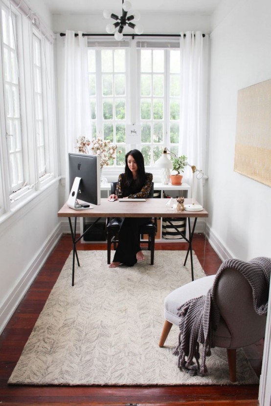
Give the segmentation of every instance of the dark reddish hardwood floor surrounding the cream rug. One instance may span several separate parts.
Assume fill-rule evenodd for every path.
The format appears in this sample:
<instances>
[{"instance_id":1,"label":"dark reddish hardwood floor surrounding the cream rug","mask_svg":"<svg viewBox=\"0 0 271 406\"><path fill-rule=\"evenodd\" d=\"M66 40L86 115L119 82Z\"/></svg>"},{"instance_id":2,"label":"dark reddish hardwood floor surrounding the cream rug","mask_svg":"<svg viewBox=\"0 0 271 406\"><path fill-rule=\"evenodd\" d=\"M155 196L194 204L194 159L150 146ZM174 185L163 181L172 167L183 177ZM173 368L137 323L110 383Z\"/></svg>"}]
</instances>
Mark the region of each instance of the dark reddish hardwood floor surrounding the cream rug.
<instances>
[{"instance_id":1,"label":"dark reddish hardwood floor surrounding the cream rug","mask_svg":"<svg viewBox=\"0 0 271 406\"><path fill-rule=\"evenodd\" d=\"M258 404L258 385L247 386L11 386L8 378L15 367L45 301L68 257L70 235L63 235L44 267L24 296L0 336L0 404L32 405L246 405ZM78 250L104 250L105 244L81 244ZM186 243L156 243L158 250L187 249ZM194 236L193 249L207 275L215 274L221 264L203 235ZM263 342L246 350L248 359L259 375Z\"/></svg>"}]
</instances>

